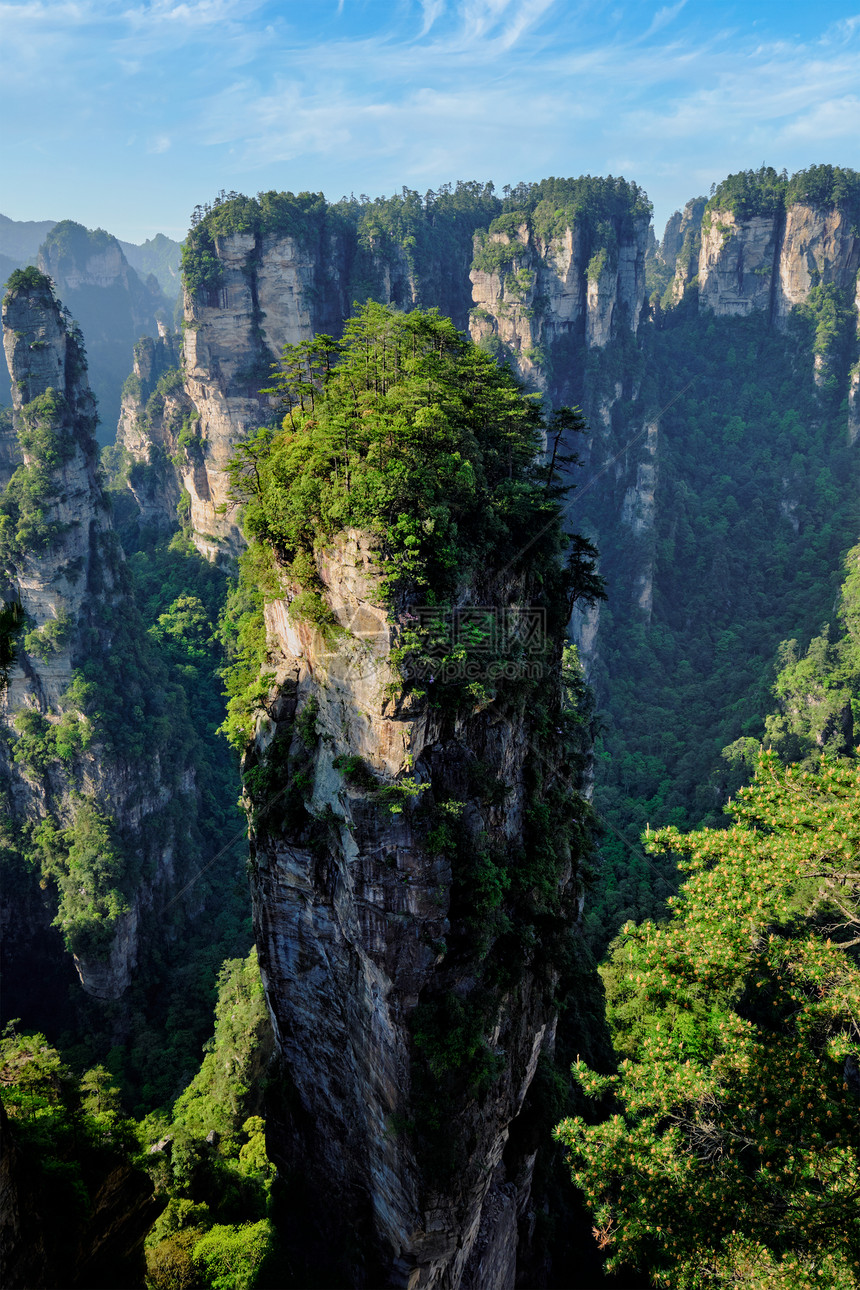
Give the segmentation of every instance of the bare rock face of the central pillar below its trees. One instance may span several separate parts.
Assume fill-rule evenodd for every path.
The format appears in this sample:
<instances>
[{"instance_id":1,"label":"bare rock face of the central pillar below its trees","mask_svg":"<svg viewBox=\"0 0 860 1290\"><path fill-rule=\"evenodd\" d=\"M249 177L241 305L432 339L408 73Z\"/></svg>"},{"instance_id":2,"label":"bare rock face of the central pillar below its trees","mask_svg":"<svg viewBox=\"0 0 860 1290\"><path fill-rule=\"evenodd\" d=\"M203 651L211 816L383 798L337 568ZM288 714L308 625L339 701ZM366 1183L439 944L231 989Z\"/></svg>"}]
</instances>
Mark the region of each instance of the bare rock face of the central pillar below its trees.
<instances>
[{"instance_id":1,"label":"bare rock face of the central pillar below its trees","mask_svg":"<svg viewBox=\"0 0 860 1290\"><path fill-rule=\"evenodd\" d=\"M422 1006L453 996L468 1009L476 984L447 957L456 877L433 841L433 813L454 801L476 848L521 845L534 734L527 713L493 704L453 721L386 699L400 684L389 659L397 624L379 608L371 546L348 531L320 575L349 633L327 645L290 618L289 592L267 606L275 686L248 757L289 762L307 784L299 814L313 822L311 837L290 824L282 791L250 802L260 970L291 1090L269 1151L326 1198L333 1249L360 1250L340 1271L352 1284L507 1290L534 1165L517 1116L556 1024L539 956L487 1024L498 1055L489 1087L445 1109L444 1146L460 1148L444 1178L422 1136L433 1103L422 1100L416 1044ZM361 777L348 769L358 760ZM505 786L493 805L486 787L476 791L478 770L485 786ZM404 782L416 786L413 797L392 810L384 795L393 802L391 786ZM454 1026L458 1004L447 1006Z\"/></svg>"}]
</instances>

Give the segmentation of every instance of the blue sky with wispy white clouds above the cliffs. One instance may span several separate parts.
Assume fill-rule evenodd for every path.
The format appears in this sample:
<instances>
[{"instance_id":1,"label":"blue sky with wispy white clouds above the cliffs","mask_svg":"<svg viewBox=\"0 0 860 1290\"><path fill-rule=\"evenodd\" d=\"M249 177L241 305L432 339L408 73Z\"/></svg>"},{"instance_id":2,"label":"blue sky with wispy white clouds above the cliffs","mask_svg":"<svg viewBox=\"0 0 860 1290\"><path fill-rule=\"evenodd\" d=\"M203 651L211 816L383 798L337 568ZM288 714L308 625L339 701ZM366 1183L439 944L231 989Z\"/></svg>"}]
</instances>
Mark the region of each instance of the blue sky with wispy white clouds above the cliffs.
<instances>
[{"instance_id":1,"label":"blue sky with wispy white clouds above the cliffs","mask_svg":"<svg viewBox=\"0 0 860 1290\"><path fill-rule=\"evenodd\" d=\"M762 161L860 169L860 0L0 0L0 212L183 237L219 188L623 174L661 228Z\"/></svg>"}]
</instances>

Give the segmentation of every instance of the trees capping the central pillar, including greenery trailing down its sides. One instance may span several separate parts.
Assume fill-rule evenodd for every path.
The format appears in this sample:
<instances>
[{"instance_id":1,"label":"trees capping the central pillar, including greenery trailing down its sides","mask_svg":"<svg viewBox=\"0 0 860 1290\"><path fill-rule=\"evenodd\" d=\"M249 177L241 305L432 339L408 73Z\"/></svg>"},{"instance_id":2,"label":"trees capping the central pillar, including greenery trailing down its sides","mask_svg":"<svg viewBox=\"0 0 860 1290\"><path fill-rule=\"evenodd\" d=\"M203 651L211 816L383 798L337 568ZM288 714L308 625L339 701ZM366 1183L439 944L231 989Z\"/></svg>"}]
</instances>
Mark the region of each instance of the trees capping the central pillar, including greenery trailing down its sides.
<instances>
[{"instance_id":1,"label":"trees capping the central pillar, including greenery trailing down its sides","mask_svg":"<svg viewBox=\"0 0 860 1290\"><path fill-rule=\"evenodd\" d=\"M409 602L444 617L467 583L491 595L494 569L511 583L534 580L549 636L563 631L571 599L602 597L596 550L561 526L557 467L570 458L539 461L539 400L436 311L400 313L369 302L340 342L288 346L269 392L282 400L282 431L250 436L230 466L251 539L244 557L250 599L263 583L281 595L284 574L300 588L291 614L331 627L316 552L348 526L374 541L383 596L397 613ZM579 414L553 417L553 436L581 428ZM224 729L240 746L260 698L260 606L255 622L246 618L227 673ZM427 631L406 626L393 660L429 648ZM460 640L458 648L468 646ZM464 658L441 658L440 671ZM446 702L473 703L484 694L478 684L451 684Z\"/></svg>"}]
</instances>

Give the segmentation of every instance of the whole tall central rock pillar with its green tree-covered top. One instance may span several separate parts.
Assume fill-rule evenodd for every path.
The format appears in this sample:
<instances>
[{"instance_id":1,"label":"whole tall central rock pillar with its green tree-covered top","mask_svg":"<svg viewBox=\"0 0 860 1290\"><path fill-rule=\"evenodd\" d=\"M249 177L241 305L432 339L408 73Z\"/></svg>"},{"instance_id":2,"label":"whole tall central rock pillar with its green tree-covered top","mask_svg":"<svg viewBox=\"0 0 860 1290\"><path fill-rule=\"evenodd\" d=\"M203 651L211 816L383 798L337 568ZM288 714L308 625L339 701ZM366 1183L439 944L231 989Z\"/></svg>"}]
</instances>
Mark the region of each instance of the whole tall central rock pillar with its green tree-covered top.
<instances>
[{"instance_id":1,"label":"whole tall central rock pillar with its green tree-covered top","mask_svg":"<svg viewBox=\"0 0 860 1290\"><path fill-rule=\"evenodd\" d=\"M561 640L598 587L534 412L450 324L366 311L294 418L235 472L268 1151L338 1284L502 1290L588 851Z\"/></svg>"}]
</instances>

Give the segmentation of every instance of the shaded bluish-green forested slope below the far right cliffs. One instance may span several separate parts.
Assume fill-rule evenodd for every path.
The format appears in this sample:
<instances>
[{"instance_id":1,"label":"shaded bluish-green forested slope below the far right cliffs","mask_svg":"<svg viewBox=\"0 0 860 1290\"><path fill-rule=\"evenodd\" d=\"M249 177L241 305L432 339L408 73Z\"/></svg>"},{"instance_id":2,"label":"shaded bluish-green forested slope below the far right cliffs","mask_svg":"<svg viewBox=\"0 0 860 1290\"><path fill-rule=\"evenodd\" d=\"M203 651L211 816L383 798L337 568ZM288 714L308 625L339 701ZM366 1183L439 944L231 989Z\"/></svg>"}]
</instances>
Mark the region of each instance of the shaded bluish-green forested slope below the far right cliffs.
<instances>
[{"instance_id":1,"label":"shaded bluish-green forested slope below the far right cliffs","mask_svg":"<svg viewBox=\"0 0 860 1290\"><path fill-rule=\"evenodd\" d=\"M761 742L780 641L798 641L802 657L832 617L841 560L856 542L857 457L845 409L816 390L810 330L803 320L777 334L762 316L672 311L624 356L624 379L641 381L640 409L676 401L660 418L654 528L619 526L611 488L575 512L597 535L612 588L589 675L602 716L594 805L607 826L585 912L598 952L628 918L660 917L677 885L670 859L643 855L638 835L655 820L719 826L747 778L721 753L738 739ZM597 356L591 390L566 392L602 397L624 375L611 361ZM640 417L618 400L606 448L592 446L594 472ZM645 568L650 613L640 608Z\"/></svg>"}]
</instances>

